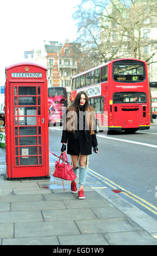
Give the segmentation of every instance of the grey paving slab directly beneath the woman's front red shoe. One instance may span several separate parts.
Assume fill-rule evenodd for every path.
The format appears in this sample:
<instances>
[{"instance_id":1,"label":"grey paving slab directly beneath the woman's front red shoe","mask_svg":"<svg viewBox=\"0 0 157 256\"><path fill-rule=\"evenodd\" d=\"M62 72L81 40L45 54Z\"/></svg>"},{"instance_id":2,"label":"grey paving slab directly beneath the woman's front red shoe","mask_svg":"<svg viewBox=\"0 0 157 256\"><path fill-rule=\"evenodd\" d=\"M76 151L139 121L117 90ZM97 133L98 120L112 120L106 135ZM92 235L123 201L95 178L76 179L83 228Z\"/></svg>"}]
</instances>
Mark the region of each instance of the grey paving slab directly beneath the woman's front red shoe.
<instances>
[{"instance_id":1,"label":"grey paving slab directly beneath the woman's front red shoe","mask_svg":"<svg viewBox=\"0 0 157 256\"><path fill-rule=\"evenodd\" d=\"M75 208L92 208L92 207L105 207L110 206L113 207L106 199L83 199L83 200L63 200L64 204L68 209L75 209Z\"/></svg>"}]
</instances>

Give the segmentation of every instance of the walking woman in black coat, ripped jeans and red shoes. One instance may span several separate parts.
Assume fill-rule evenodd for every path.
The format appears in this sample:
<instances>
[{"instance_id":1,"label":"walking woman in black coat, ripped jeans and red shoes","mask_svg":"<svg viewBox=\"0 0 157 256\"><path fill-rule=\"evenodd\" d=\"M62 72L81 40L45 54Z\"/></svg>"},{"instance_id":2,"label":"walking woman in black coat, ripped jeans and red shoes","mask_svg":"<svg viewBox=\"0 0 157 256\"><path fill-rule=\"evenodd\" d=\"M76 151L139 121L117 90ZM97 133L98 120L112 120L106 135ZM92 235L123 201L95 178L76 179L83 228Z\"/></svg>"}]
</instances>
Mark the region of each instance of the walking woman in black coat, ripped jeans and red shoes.
<instances>
[{"instance_id":1,"label":"walking woman in black coat, ripped jeans and red shoes","mask_svg":"<svg viewBox=\"0 0 157 256\"><path fill-rule=\"evenodd\" d=\"M66 151L66 143L68 142L67 154L71 156L75 175L77 167L80 169L79 199L85 198L83 187L86 184L88 157L91 154L92 146L94 152L98 153L95 130L95 109L89 105L87 94L81 91L76 95L74 102L66 112L61 139L62 152ZM71 181L71 192L77 193L76 180Z\"/></svg>"}]
</instances>

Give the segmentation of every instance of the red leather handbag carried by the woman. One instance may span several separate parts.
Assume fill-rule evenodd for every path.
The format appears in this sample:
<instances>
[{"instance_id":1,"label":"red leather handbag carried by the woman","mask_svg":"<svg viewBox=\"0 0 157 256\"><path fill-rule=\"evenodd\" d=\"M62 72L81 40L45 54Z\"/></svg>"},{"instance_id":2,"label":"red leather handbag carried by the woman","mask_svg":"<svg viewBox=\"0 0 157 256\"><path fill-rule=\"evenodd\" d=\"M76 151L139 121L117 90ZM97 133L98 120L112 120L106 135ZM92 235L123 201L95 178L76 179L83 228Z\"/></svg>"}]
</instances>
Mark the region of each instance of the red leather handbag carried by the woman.
<instances>
[{"instance_id":1,"label":"red leather handbag carried by the woman","mask_svg":"<svg viewBox=\"0 0 157 256\"><path fill-rule=\"evenodd\" d=\"M62 163L60 163L61 157L62 157ZM66 163L66 160L67 160L67 163ZM53 176L56 178L62 179L62 182L63 180L71 181L76 179L76 175L73 172L73 166L70 166L70 164L68 163L66 152L62 152L60 155L59 161L55 162L55 172ZM55 182L55 178L54 178L54 182ZM65 191L64 184L63 184L63 189Z\"/></svg>"}]
</instances>

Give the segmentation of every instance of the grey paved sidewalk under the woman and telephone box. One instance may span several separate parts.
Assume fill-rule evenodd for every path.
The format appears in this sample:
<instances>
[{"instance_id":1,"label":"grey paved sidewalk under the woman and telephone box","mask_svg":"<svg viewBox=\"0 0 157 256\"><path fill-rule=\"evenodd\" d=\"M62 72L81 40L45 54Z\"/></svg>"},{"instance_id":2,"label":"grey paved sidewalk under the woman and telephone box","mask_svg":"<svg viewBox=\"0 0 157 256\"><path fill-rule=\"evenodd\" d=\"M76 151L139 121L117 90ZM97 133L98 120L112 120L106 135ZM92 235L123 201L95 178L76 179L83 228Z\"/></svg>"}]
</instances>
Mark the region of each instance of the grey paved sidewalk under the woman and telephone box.
<instances>
[{"instance_id":1,"label":"grey paved sidewalk under the woman and telephone box","mask_svg":"<svg viewBox=\"0 0 157 256\"><path fill-rule=\"evenodd\" d=\"M79 200L53 172L50 163L50 179L6 180L0 148L0 245L157 245L153 218L89 175Z\"/></svg>"}]
</instances>

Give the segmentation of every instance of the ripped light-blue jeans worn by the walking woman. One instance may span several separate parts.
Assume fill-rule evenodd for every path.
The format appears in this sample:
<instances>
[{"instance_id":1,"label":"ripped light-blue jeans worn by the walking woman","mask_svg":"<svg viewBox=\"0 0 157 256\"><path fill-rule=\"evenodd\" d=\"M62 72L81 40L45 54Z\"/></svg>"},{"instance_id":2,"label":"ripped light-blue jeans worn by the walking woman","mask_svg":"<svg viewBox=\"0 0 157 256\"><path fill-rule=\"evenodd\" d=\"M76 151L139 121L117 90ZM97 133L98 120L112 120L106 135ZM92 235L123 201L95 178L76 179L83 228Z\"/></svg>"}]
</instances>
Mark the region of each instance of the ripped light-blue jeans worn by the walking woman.
<instances>
[{"instance_id":1,"label":"ripped light-blue jeans worn by the walking woman","mask_svg":"<svg viewBox=\"0 0 157 256\"><path fill-rule=\"evenodd\" d=\"M82 167L80 166L80 164L78 164L79 160L80 160L80 156L78 157L78 161L76 163L76 169L73 166L73 172L77 176L77 169L79 168L79 184L84 186L86 185L89 156L87 155L87 163L85 167ZM72 159L71 159L71 163L73 164Z\"/></svg>"}]
</instances>

